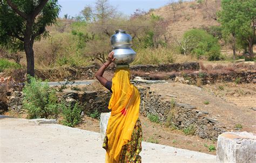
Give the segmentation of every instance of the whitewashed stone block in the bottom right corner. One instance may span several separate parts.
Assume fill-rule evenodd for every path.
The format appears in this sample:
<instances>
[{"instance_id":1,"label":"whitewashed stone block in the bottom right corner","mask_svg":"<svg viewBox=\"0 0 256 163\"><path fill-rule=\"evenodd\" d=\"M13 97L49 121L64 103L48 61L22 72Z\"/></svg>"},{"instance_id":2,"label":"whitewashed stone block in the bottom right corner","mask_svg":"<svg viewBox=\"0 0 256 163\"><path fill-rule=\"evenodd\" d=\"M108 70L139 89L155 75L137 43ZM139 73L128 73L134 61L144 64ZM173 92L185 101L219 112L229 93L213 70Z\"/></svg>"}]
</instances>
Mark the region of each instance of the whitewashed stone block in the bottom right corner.
<instances>
[{"instance_id":1,"label":"whitewashed stone block in the bottom right corner","mask_svg":"<svg viewBox=\"0 0 256 163\"><path fill-rule=\"evenodd\" d=\"M256 162L256 135L225 132L218 137L217 162Z\"/></svg>"}]
</instances>

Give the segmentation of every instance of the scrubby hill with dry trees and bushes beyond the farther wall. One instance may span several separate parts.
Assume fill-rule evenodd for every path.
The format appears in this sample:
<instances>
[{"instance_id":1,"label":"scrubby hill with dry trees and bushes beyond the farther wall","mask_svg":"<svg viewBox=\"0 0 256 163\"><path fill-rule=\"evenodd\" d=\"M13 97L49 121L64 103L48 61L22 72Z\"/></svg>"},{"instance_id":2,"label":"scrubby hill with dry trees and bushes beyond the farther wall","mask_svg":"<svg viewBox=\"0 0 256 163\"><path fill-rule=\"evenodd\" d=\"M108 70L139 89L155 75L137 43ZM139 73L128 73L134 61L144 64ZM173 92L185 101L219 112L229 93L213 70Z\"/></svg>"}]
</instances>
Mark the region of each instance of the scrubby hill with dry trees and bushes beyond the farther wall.
<instances>
[{"instance_id":1,"label":"scrubby hill with dry trees and bushes beyond the farther wall","mask_svg":"<svg viewBox=\"0 0 256 163\"><path fill-rule=\"evenodd\" d=\"M35 66L36 69L52 69L104 63L111 51L110 37L116 29L127 30L133 38L133 49L137 52L133 64L231 59L231 56L221 53L221 49L233 50L233 59L245 57L237 55L240 51L250 53L247 59L253 60L254 2L171 1L163 8L148 12L138 9L127 17L111 6L108 0L98 0L95 7L85 6L77 17L65 15L58 18L54 25L46 27L46 31L49 31L47 37L33 44ZM221 7L221 4L227 7ZM241 4L244 6L242 9L235 8ZM241 15L248 17L244 22L240 19L239 24L233 26L239 29L240 24L244 24L244 28L247 24L247 32L234 34L231 29L225 28L227 25L222 20L225 20L224 13L229 12L225 11L229 6L240 11L230 19L235 21ZM250 9L250 15L245 12L246 8ZM250 39L250 43L240 41L247 40L245 38ZM14 50L2 42L0 55L24 66L23 50Z\"/></svg>"}]
</instances>

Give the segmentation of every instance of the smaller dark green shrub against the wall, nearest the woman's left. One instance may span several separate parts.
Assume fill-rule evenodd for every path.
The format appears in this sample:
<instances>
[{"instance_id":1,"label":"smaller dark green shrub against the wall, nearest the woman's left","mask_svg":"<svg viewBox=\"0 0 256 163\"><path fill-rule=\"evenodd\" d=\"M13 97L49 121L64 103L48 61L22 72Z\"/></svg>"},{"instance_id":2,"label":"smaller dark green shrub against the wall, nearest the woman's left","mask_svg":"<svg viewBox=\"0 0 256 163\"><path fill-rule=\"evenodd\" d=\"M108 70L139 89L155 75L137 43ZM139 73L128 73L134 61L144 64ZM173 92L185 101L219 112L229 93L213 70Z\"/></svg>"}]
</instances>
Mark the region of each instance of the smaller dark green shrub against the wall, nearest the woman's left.
<instances>
[{"instance_id":1,"label":"smaller dark green shrub against the wall, nearest the woman's left","mask_svg":"<svg viewBox=\"0 0 256 163\"><path fill-rule=\"evenodd\" d=\"M64 119L62 121L63 125L73 127L80 123L82 108L78 105L78 103L71 105L62 102L60 107L62 108L62 116Z\"/></svg>"}]
</instances>

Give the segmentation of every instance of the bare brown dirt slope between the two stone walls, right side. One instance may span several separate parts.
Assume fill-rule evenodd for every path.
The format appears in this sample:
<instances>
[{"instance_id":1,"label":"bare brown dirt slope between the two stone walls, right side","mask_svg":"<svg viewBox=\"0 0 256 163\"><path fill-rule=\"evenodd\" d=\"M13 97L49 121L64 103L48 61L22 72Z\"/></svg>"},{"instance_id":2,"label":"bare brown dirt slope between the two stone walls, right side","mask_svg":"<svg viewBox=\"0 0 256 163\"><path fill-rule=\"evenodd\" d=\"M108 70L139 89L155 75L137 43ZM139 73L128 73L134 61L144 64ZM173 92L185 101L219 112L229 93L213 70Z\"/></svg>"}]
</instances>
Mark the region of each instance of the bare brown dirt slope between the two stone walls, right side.
<instances>
[{"instance_id":1,"label":"bare brown dirt slope between the two stone walls, right side","mask_svg":"<svg viewBox=\"0 0 256 163\"><path fill-rule=\"evenodd\" d=\"M256 111L250 109L250 107L256 107L254 84L235 85L229 83L224 84L224 88L219 88L219 84L197 87L181 83L147 86L150 86L151 90L163 98L171 100L171 97L166 96L171 94L177 97L174 100L179 103L194 105L198 110L207 111L209 118L219 121L220 125L226 127L228 131L235 130L235 125L239 124L242 125L241 131L256 133ZM216 87L220 91L215 91ZM217 93L223 94L223 96L219 96Z\"/></svg>"}]
</instances>

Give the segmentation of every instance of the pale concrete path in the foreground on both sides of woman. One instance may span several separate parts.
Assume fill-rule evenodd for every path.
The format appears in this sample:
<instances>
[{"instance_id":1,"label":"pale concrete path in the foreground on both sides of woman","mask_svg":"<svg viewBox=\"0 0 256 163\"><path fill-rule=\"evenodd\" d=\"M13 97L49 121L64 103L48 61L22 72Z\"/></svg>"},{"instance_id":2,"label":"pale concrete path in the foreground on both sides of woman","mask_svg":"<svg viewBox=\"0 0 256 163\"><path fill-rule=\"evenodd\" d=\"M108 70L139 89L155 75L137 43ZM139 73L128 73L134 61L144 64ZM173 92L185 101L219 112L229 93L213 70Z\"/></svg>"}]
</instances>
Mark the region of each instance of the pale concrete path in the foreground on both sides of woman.
<instances>
[{"instance_id":1,"label":"pale concrete path in the foreground on both sides of woman","mask_svg":"<svg viewBox=\"0 0 256 163\"><path fill-rule=\"evenodd\" d=\"M0 118L0 162L104 162L100 134ZM215 155L143 142L143 162L215 162Z\"/></svg>"}]
</instances>

